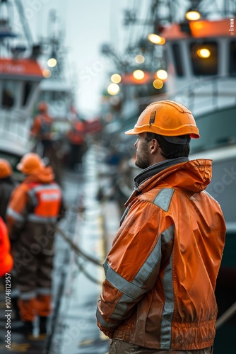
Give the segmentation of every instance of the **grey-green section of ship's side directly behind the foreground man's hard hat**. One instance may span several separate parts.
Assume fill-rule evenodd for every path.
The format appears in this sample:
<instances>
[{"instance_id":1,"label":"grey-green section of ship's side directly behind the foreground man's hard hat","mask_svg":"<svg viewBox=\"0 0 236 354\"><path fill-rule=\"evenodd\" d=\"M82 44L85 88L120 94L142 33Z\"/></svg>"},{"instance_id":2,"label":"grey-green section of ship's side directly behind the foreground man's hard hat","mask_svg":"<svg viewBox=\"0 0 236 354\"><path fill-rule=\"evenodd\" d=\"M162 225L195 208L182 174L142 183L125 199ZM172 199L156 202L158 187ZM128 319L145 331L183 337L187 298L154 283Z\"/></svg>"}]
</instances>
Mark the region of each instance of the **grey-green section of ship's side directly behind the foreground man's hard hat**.
<instances>
[{"instance_id":1,"label":"grey-green section of ship's side directly behind the foreground man's hard hat","mask_svg":"<svg viewBox=\"0 0 236 354\"><path fill-rule=\"evenodd\" d=\"M236 142L235 107L215 110L196 117L200 139L191 139L191 153L217 147L228 146Z\"/></svg>"}]
</instances>

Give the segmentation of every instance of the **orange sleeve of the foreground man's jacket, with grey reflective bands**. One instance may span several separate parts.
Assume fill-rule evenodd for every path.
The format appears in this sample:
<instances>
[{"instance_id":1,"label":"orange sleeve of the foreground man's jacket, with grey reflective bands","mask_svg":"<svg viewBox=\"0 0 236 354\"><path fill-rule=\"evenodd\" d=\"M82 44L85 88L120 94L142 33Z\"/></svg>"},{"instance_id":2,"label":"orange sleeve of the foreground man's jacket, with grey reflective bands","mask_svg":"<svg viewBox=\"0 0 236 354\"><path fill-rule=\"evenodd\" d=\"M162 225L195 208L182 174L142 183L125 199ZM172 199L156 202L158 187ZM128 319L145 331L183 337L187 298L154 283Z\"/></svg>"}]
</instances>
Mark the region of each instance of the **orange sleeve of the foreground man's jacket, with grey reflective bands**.
<instances>
[{"instance_id":1,"label":"orange sleeve of the foreground man's jacket, with grey reflective bands","mask_svg":"<svg viewBox=\"0 0 236 354\"><path fill-rule=\"evenodd\" d=\"M155 286L163 245L171 244L172 252L174 226L163 222L159 232L158 219L158 207L137 203L114 239L104 263L105 282L97 311L98 326L107 336L112 337L112 331L129 319L136 304Z\"/></svg>"}]
</instances>

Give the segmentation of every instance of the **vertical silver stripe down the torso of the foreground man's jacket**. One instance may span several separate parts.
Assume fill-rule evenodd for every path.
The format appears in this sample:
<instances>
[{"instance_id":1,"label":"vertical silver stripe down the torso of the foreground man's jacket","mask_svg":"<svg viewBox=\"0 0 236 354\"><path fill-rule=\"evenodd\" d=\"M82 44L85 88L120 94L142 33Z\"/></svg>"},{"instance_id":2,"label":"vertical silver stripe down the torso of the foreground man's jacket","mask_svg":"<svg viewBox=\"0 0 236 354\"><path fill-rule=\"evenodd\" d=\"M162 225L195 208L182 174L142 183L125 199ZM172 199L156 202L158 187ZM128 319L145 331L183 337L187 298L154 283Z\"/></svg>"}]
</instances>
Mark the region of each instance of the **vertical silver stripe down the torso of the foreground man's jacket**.
<instances>
[{"instance_id":1,"label":"vertical silver stripe down the torso of the foreground man's jacket","mask_svg":"<svg viewBox=\"0 0 236 354\"><path fill-rule=\"evenodd\" d=\"M174 312L172 256L170 257L170 263L165 268L165 274L163 277L163 289L165 295L165 305L163 308L162 321L160 324L160 348L170 350L171 323Z\"/></svg>"}]
</instances>

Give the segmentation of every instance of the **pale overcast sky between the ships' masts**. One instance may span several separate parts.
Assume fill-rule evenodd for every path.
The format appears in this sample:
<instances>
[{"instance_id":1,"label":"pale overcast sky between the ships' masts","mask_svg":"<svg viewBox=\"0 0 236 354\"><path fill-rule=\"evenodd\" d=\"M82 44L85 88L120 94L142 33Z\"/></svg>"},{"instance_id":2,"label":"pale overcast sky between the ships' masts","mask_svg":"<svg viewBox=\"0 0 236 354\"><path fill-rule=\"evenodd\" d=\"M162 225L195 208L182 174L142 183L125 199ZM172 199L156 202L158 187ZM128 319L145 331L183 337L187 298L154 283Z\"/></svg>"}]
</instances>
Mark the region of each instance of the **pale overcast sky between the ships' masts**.
<instances>
[{"instance_id":1,"label":"pale overcast sky between the ships' masts","mask_svg":"<svg viewBox=\"0 0 236 354\"><path fill-rule=\"evenodd\" d=\"M142 3L142 0L138 0ZM106 72L112 64L100 54L103 43L119 47L124 40L122 21L124 9L136 0L24 0L33 38L46 36L49 31L49 10L57 10L60 29L65 34L69 76L73 78L77 105L81 113L98 111L100 93L107 82ZM35 3L35 5L34 5Z\"/></svg>"}]
</instances>

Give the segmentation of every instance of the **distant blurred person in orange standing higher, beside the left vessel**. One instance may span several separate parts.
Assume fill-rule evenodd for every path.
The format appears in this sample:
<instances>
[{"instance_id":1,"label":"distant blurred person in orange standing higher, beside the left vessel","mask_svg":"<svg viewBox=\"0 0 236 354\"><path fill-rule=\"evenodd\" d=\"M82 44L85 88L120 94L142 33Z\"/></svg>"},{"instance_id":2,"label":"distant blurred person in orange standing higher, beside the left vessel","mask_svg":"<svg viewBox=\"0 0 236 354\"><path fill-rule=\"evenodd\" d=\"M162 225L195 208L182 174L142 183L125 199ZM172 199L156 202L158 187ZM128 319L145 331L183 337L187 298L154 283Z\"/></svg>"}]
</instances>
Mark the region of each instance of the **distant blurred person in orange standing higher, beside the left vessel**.
<instances>
[{"instance_id":1,"label":"distant blurred person in orange standing higher, beside the left vessel","mask_svg":"<svg viewBox=\"0 0 236 354\"><path fill-rule=\"evenodd\" d=\"M53 119L48 113L46 102L40 102L37 106L38 114L33 120L31 137L36 141L36 152L40 156L50 156L52 150L52 122Z\"/></svg>"}]
</instances>

